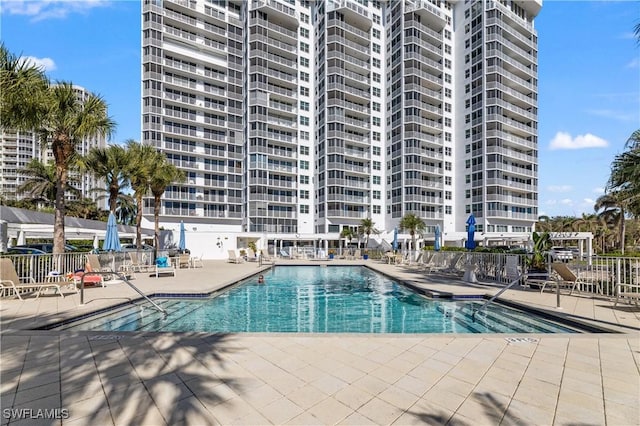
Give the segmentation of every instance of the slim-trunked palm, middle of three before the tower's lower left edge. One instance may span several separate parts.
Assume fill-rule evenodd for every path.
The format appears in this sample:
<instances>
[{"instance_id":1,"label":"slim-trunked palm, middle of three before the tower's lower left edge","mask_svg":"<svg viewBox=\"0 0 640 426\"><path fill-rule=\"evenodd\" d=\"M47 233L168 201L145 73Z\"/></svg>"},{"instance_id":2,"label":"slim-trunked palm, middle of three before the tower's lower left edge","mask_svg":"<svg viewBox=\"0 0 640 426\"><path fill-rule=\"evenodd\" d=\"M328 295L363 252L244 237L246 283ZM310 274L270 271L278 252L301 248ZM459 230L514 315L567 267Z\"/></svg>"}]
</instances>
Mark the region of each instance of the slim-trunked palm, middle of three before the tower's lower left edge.
<instances>
[{"instance_id":1,"label":"slim-trunked palm, middle of three before the tower's lower left edge","mask_svg":"<svg viewBox=\"0 0 640 426\"><path fill-rule=\"evenodd\" d=\"M127 174L131 181L133 197L136 200L136 244L142 248L142 212L143 198L149 194L151 173L154 168L158 152L151 145L143 145L133 139L126 141L130 162Z\"/></svg>"}]
</instances>

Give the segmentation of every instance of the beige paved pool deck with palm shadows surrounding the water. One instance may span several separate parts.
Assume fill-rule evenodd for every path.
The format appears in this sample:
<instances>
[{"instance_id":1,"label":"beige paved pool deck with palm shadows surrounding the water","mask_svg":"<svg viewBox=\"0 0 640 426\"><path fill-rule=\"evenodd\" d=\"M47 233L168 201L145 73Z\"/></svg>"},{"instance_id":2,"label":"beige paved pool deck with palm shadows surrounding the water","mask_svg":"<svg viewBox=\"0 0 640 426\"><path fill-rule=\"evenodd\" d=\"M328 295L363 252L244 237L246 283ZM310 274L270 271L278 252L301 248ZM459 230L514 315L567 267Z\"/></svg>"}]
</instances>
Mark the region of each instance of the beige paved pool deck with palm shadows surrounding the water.
<instances>
[{"instance_id":1,"label":"beige paved pool deck with palm shadows surrounding the water","mask_svg":"<svg viewBox=\"0 0 640 426\"><path fill-rule=\"evenodd\" d=\"M366 264L431 292L499 290L374 260L328 263ZM205 261L132 283L145 294L202 293L262 269ZM65 294L1 301L1 425L640 425L640 307L626 302L563 292L558 309L552 291L501 296L617 333L32 330L139 298L123 283L85 289L82 306Z\"/></svg>"}]
</instances>

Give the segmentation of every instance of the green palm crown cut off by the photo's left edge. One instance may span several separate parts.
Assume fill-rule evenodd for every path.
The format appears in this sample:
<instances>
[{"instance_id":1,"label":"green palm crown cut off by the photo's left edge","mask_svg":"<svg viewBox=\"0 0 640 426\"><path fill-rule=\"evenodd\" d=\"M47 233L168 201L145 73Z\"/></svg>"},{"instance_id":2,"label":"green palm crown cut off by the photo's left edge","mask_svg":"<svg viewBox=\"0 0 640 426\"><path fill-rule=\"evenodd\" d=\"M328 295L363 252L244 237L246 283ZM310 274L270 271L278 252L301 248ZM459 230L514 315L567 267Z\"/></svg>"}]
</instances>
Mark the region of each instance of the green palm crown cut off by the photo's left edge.
<instances>
[{"instance_id":1,"label":"green palm crown cut off by the photo's left edge","mask_svg":"<svg viewBox=\"0 0 640 426\"><path fill-rule=\"evenodd\" d=\"M48 87L41 67L14 55L0 43L0 125L3 129L38 128L49 105Z\"/></svg>"}]
</instances>

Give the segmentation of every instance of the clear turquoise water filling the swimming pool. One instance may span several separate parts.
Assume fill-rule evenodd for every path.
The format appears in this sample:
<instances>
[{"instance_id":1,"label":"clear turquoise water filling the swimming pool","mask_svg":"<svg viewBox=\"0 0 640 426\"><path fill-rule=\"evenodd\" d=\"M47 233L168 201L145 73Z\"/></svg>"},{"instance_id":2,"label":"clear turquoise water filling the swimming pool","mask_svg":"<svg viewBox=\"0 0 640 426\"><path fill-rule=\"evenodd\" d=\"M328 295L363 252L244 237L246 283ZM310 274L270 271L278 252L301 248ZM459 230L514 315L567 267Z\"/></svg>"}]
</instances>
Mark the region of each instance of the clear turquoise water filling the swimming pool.
<instances>
[{"instance_id":1,"label":"clear turquoise water filling the swimming pool","mask_svg":"<svg viewBox=\"0 0 640 426\"><path fill-rule=\"evenodd\" d=\"M214 297L155 299L57 329L291 333L575 333L576 329L482 300L416 294L361 266L275 266Z\"/></svg>"}]
</instances>

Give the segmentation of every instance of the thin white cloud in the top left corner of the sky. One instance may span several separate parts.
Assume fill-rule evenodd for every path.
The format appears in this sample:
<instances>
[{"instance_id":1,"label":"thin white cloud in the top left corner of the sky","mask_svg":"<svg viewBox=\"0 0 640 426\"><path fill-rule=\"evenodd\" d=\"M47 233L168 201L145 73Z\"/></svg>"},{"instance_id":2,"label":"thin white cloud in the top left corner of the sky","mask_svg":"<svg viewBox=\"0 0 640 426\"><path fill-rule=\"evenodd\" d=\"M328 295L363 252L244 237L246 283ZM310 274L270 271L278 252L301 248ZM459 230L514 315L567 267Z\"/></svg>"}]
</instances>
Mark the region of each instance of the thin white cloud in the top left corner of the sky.
<instances>
[{"instance_id":1,"label":"thin white cloud in the top left corner of the sky","mask_svg":"<svg viewBox=\"0 0 640 426\"><path fill-rule=\"evenodd\" d=\"M31 16L32 21L62 19L72 13L86 13L96 8L108 6L111 0L2 0L2 13Z\"/></svg>"}]
</instances>

